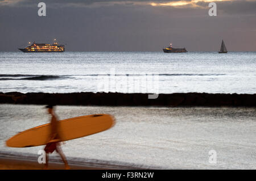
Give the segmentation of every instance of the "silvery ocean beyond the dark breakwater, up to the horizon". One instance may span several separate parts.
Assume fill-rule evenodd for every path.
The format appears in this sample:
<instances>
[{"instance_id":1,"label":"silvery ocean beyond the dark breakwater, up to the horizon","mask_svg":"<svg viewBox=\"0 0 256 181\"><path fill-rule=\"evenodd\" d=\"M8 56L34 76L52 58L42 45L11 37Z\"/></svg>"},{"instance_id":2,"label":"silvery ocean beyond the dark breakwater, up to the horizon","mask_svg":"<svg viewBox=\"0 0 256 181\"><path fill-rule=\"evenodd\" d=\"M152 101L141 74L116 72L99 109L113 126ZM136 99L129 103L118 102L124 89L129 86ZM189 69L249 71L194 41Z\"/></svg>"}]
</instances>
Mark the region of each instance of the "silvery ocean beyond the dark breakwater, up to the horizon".
<instances>
[{"instance_id":1,"label":"silvery ocean beyond the dark breakwater, up to the horizon","mask_svg":"<svg viewBox=\"0 0 256 181\"><path fill-rule=\"evenodd\" d=\"M0 92L256 92L256 52L0 52Z\"/></svg>"}]
</instances>

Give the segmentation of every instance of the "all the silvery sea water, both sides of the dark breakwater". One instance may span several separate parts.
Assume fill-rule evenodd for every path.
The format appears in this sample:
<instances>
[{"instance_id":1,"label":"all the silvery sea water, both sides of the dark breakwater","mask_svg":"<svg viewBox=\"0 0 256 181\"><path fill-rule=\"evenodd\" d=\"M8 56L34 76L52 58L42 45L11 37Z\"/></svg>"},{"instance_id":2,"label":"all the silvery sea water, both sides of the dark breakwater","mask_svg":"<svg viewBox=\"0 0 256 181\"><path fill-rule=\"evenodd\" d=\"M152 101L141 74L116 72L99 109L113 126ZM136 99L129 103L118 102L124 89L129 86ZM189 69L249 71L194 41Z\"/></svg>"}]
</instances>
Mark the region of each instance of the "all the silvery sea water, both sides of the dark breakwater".
<instances>
[{"instance_id":1,"label":"all the silvery sea water, both sides of the dark breakwater","mask_svg":"<svg viewBox=\"0 0 256 181\"><path fill-rule=\"evenodd\" d=\"M0 52L0 92L255 94L255 61L255 52ZM145 86L145 77L156 80L156 90L147 81ZM109 113L117 120L108 131L67 141L63 150L69 161L256 169L255 108L57 106L56 112L60 119ZM49 118L43 106L1 104L0 154L37 156L43 146L8 148L5 141ZM211 153L216 162L209 161Z\"/></svg>"}]
</instances>

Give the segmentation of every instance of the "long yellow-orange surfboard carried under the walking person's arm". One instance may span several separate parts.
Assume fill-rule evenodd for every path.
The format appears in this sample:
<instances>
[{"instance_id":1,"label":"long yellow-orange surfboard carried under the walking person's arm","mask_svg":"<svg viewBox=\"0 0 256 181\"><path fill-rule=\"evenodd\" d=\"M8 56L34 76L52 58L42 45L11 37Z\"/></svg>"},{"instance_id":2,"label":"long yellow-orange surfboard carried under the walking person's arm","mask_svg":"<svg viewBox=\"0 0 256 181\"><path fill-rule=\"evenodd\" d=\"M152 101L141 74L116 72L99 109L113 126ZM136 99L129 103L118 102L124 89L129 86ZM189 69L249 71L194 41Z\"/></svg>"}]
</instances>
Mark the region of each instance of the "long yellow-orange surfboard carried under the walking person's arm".
<instances>
[{"instance_id":1,"label":"long yellow-orange surfboard carried under the walking person's arm","mask_svg":"<svg viewBox=\"0 0 256 181\"><path fill-rule=\"evenodd\" d=\"M105 131L113 127L114 124L114 117L107 114L73 117L59 121L58 133L60 141L68 141ZM46 145L50 128L48 123L27 129L9 138L6 145L15 148Z\"/></svg>"}]
</instances>

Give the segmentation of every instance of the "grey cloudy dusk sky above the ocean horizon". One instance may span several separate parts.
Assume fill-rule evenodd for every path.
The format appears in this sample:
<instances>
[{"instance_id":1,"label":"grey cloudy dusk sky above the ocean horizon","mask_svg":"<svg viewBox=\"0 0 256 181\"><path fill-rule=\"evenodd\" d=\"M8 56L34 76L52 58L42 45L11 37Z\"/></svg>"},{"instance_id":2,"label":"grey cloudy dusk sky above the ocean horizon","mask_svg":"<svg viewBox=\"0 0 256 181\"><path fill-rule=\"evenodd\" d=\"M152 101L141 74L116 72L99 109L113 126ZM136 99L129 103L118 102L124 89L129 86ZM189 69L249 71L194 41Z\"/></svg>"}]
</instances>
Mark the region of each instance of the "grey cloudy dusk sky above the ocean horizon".
<instances>
[{"instance_id":1,"label":"grey cloudy dusk sky above the ocean horizon","mask_svg":"<svg viewBox=\"0 0 256 181\"><path fill-rule=\"evenodd\" d=\"M66 51L218 51L222 39L228 51L256 51L256 0L0 0L0 51L54 39Z\"/></svg>"}]
</instances>

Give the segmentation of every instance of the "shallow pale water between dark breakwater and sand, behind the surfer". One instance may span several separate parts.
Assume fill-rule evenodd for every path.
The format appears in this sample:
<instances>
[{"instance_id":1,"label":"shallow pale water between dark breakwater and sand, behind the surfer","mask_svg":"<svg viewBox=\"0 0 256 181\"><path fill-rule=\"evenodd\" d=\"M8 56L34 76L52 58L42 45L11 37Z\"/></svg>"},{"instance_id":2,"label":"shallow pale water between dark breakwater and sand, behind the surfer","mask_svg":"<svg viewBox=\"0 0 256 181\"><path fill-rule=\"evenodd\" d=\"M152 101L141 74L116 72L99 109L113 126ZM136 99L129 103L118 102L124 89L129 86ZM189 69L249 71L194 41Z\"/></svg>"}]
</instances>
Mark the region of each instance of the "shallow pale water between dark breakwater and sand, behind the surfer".
<instances>
[{"instance_id":1,"label":"shallow pale water between dark breakwater and sand, behind the surfer","mask_svg":"<svg viewBox=\"0 0 256 181\"><path fill-rule=\"evenodd\" d=\"M97 113L116 119L113 128L62 146L74 168L82 169L255 169L255 112L255 107L56 107L60 120ZM43 146L9 148L5 141L48 123L44 106L0 104L0 115L2 157L26 157L36 164ZM210 150L216 151L217 163L209 162ZM56 153L51 161L62 164Z\"/></svg>"}]
</instances>

